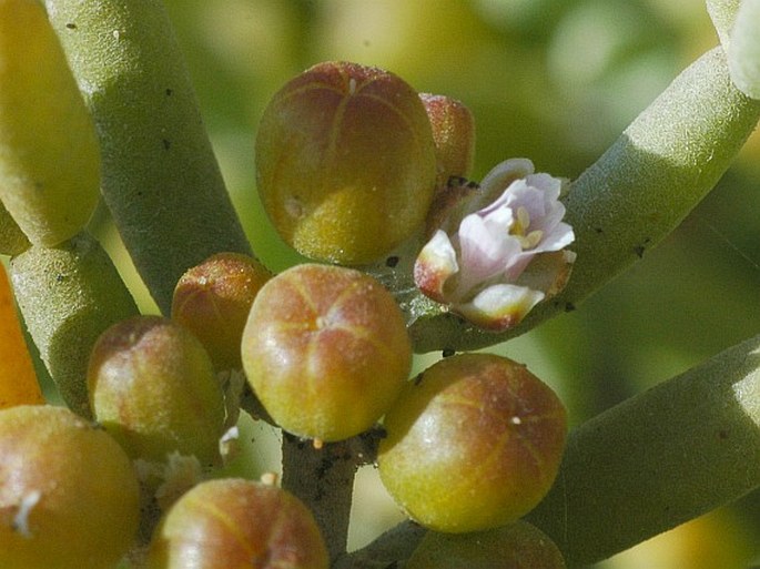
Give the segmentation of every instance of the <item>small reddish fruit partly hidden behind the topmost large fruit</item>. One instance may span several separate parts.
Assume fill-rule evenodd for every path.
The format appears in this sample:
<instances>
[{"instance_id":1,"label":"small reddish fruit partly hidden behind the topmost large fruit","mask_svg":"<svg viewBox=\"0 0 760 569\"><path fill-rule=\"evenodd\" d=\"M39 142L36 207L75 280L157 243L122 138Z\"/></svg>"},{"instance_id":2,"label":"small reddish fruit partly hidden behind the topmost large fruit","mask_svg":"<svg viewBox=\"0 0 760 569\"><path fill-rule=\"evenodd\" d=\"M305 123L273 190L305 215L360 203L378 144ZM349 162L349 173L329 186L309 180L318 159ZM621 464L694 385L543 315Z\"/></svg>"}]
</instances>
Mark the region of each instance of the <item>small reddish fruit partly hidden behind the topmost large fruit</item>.
<instances>
[{"instance_id":1,"label":"small reddish fruit partly hidden behind the topmost large fruit","mask_svg":"<svg viewBox=\"0 0 760 569\"><path fill-rule=\"evenodd\" d=\"M450 176L467 177L475 161L475 119L462 102L445 95L419 93L430 120L438 164L437 186Z\"/></svg>"}]
</instances>

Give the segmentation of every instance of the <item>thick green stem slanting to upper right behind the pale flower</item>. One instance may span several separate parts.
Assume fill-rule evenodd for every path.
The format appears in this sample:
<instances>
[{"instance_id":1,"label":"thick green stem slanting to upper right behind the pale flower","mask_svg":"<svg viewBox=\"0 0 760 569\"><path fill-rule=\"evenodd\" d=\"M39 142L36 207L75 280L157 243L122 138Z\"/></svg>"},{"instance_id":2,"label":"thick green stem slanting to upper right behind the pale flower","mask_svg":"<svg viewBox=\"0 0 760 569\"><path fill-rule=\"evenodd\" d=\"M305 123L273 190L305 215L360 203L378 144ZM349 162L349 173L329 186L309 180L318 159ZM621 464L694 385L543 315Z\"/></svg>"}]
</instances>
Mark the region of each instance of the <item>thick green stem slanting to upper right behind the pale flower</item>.
<instances>
[{"instance_id":1,"label":"thick green stem slanting to upper right behind the pale flower","mask_svg":"<svg viewBox=\"0 0 760 569\"><path fill-rule=\"evenodd\" d=\"M733 85L722 49L706 53L572 183L566 205L578 256L565 291L504 334L430 311L409 328L415 349L498 344L571 309L683 220L726 172L758 118L760 101Z\"/></svg>"}]
</instances>

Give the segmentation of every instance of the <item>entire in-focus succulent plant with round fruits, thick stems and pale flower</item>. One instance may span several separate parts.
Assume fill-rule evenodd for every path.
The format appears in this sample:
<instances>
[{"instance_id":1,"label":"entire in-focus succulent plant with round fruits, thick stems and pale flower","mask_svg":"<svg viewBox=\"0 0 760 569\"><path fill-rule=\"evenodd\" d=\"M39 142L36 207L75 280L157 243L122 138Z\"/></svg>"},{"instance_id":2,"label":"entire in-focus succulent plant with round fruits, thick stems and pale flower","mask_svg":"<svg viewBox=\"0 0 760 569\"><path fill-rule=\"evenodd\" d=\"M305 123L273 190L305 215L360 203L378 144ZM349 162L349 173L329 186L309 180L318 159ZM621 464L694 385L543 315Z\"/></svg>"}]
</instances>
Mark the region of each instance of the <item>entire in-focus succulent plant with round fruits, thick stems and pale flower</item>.
<instances>
[{"instance_id":1,"label":"entire in-focus succulent plant with round fruits, thick stems and pale flower","mask_svg":"<svg viewBox=\"0 0 760 569\"><path fill-rule=\"evenodd\" d=\"M327 63L294 79L262 120L260 192L283 238L326 264L273 276L227 196L162 3L0 0L0 246L29 333L81 417L24 406L0 414L0 556L110 567L132 547L130 562L150 567L190 567L199 551L211 560L192 567L270 567L283 551L296 551L287 567L304 568L492 567L510 556L514 567L578 567L756 489L758 338L567 439L560 402L508 359L460 354L406 377L412 350L493 346L577 306L716 185L760 118L760 1L708 10L721 45L572 181L514 159L467 182L466 108L384 71ZM164 317L138 314L88 232L99 192ZM304 331L323 334L305 341ZM224 339L241 335L242 357ZM8 337L18 366L0 375L12 386L0 404L40 403L18 331ZM122 399L130 386L136 398ZM221 463L214 441L241 406L287 431L286 491L206 481L170 508ZM36 421L48 425L40 435ZM65 492L37 467L38 486L24 486L19 465L34 463L7 433L29 439L38 459L51 440L103 458L59 468ZM428 460L429 440L455 450ZM346 553L354 473L375 460L415 521ZM102 508L119 516L118 531L99 540L83 536L100 508L71 489L93 478L88 499L119 495ZM69 510L81 525L67 521ZM44 541L40 512L69 534ZM220 557L203 536L225 525L244 547ZM473 547L473 532L484 547Z\"/></svg>"}]
</instances>

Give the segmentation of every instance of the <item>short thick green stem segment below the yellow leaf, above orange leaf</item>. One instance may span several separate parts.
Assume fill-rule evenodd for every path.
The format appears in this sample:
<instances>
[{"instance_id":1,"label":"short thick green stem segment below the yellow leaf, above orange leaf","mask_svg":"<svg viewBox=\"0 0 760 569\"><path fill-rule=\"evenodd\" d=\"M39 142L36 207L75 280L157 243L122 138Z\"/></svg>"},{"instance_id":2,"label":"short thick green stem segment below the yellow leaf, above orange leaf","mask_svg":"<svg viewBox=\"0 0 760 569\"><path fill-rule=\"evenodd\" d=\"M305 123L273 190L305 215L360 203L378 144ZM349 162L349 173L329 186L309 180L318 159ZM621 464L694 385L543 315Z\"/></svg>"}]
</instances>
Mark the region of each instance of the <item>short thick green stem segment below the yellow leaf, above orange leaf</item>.
<instances>
[{"instance_id":1,"label":"short thick green stem segment below the yellow leaf, above orange leaf","mask_svg":"<svg viewBox=\"0 0 760 569\"><path fill-rule=\"evenodd\" d=\"M91 417L87 368L98 336L138 308L111 260L83 232L57 247L32 246L10 275L27 327L63 400Z\"/></svg>"}]
</instances>

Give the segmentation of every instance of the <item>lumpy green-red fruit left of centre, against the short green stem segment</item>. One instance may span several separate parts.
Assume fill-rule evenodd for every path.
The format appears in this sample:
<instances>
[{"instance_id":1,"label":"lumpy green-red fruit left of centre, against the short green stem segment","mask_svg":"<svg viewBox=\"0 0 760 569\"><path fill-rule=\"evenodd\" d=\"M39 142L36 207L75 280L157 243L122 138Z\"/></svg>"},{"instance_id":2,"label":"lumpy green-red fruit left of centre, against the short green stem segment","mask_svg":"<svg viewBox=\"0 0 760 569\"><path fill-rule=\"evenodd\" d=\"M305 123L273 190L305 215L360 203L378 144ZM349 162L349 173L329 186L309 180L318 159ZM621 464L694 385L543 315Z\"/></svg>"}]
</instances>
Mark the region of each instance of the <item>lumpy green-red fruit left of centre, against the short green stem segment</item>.
<instances>
[{"instance_id":1,"label":"lumpy green-red fruit left of centre, against the short green stem segment","mask_svg":"<svg viewBox=\"0 0 760 569\"><path fill-rule=\"evenodd\" d=\"M164 460L179 451L220 461L224 400L200 341L159 316L107 329L88 369L90 406L132 458Z\"/></svg>"}]
</instances>

